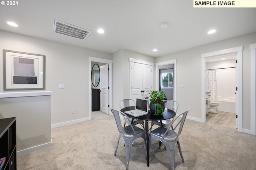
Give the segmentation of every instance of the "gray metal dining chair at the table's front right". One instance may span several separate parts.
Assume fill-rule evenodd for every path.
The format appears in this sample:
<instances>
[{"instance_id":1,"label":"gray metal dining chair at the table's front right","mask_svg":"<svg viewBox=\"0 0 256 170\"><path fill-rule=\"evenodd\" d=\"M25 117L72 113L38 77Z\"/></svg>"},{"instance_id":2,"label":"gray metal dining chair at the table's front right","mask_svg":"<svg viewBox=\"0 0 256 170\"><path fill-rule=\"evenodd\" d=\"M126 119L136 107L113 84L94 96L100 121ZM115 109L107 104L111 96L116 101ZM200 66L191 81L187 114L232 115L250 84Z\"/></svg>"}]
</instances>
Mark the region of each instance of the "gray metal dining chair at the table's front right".
<instances>
[{"instance_id":1,"label":"gray metal dining chair at the table's front right","mask_svg":"<svg viewBox=\"0 0 256 170\"><path fill-rule=\"evenodd\" d=\"M168 128L158 127L155 130L152 130L150 133L150 143L149 144L151 144L151 142L153 140L158 140L158 141L161 141L166 146L169 161L170 161L170 166L173 170L174 170L174 149L175 149L176 143L178 144L182 162L184 162L184 158L182 156L182 152L181 152L181 148L180 148L179 136L182 131L187 114L188 114L188 111L185 111L185 112L181 113L180 115L178 115L172 121L172 123L169 125ZM182 116L182 118L180 119L180 121L173 128L173 130L171 130L170 128L172 127L173 123L181 116ZM175 129L178 127L178 125L180 125L180 127L178 130L178 133L176 133Z\"/></svg>"}]
</instances>

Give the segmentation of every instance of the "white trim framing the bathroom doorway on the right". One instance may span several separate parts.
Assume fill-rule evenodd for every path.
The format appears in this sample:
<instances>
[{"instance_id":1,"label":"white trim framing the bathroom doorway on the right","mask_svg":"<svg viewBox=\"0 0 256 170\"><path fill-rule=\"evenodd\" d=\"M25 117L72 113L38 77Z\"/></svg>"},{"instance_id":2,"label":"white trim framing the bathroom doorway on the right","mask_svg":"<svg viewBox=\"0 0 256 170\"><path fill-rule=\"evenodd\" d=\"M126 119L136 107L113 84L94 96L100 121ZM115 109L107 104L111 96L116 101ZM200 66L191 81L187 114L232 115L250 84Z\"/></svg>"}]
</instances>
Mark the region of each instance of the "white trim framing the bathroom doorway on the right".
<instances>
[{"instance_id":1,"label":"white trim framing the bathroom doorway on the right","mask_svg":"<svg viewBox=\"0 0 256 170\"><path fill-rule=\"evenodd\" d=\"M202 94L201 94L201 103L202 103L202 122L205 123L206 122L206 114L205 114L205 58L207 57L214 57L214 56L218 56L218 55L225 55L225 54L230 54L230 53L236 53L237 55L237 72L238 72L238 77L236 77L236 81L238 81L238 102L236 103L236 109L237 109L237 113L238 113L238 131L242 131L242 123L243 123L243 103L242 103L242 97L243 97L243 89L242 89L242 51L243 51L243 46L239 46L239 47L234 47L234 48L228 48L228 49L222 49L219 51L213 51L213 52L209 52L209 53L203 53L201 54L201 68L202 68Z\"/></svg>"}]
</instances>

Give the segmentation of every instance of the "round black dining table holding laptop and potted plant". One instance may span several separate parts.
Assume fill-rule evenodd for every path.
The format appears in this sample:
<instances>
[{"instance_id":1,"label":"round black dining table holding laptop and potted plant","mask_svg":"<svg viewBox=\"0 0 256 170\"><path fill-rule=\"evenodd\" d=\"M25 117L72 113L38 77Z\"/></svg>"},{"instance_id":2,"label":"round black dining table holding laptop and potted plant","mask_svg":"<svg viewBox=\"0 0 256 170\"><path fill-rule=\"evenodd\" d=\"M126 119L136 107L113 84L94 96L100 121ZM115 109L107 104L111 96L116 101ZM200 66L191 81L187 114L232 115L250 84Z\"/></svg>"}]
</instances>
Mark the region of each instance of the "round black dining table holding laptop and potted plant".
<instances>
[{"instance_id":1,"label":"round black dining table holding laptop and potted plant","mask_svg":"<svg viewBox=\"0 0 256 170\"><path fill-rule=\"evenodd\" d=\"M121 112L134 110L135 106L125 107L121 109ZM126 114L126 113L125 113ZM175 117L176 113L170 109L165 108L163 115L155 116L154 113L152 113L150 110L148 111L147 115L139 116L139 117L133 117L132 115L126 114L127 117L138 120L145 121L145 133L146 133L146 150L147 150L147 166L149 166L149 129L148 129L148 121L160 121L162 125L162 120L171 119Z\"/></svg>"}]
</instances>

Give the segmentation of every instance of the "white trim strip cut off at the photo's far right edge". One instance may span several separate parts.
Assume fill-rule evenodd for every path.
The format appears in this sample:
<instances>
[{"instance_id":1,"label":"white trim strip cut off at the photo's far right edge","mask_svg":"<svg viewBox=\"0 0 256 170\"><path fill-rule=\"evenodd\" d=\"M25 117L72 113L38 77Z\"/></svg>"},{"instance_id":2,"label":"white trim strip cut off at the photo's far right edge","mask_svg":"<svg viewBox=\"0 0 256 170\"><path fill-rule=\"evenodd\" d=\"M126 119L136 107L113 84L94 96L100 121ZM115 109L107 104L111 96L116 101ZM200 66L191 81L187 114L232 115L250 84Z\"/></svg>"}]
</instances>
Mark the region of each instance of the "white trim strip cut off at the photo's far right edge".
<instances>
[{"instance_id":1,"label":"white trim strip cut off at the photo's far right edge","mask_svg":"<svg viewBox=\"0 0 256 170\"><path fill-rule=\"evenodd\" d=\"M251 49L251 134L256 135L256 43L250 45Z\"/></svg>"}]
</instances>

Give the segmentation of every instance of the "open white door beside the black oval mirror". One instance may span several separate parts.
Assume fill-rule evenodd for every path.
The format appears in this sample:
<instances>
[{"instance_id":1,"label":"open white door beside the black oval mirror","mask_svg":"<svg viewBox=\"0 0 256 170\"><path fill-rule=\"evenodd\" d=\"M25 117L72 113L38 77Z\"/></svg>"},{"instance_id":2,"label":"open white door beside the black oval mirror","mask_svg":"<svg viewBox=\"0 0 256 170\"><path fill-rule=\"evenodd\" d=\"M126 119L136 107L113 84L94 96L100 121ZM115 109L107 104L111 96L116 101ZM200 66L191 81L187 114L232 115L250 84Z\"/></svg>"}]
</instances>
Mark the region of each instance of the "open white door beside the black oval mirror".
<instances>
[{"instance_id":1,"label":"open white door beside the black oval mirror","mask_svg":"<svg viewBox=\"0 0 256 170\"><path fill-rule=\"evenodd\" d=\"M100 111L109 114L108 64L100 66Z\"/></svg>"}]
</instances>

